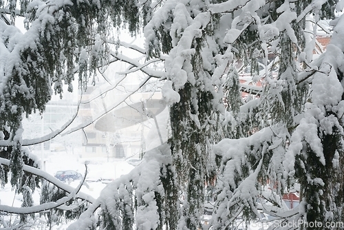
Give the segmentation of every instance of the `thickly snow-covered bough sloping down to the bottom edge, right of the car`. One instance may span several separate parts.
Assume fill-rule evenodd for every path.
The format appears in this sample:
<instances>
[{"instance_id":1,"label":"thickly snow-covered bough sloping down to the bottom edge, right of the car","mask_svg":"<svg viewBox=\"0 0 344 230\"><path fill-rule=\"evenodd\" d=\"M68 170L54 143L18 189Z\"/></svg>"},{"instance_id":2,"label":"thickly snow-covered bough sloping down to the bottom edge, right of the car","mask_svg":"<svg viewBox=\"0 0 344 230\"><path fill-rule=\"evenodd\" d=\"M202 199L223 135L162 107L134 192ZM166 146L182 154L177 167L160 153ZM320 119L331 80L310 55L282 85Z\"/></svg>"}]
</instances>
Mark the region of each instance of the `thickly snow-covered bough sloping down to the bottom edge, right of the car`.
<instances>
[{"instance_id":1,"label":"thickly snow-covered bough sloping down to the bottom edge, right of the car","mask_svg":"<svg viewBox=\"0 0 344 230\"><path fill-rule=\"evenodd\" d=\"M136 226L142 230L157 229L164 216L159 210L164 210L161 205L165 197L160 170L169 163L169 145L147 152L138 167L109 183L96 202L67 230L89 229L95 224L94 213L98 207L102 209L103 221L111 223L107 228L131 229Z\"/></svg>"}]
</instances>

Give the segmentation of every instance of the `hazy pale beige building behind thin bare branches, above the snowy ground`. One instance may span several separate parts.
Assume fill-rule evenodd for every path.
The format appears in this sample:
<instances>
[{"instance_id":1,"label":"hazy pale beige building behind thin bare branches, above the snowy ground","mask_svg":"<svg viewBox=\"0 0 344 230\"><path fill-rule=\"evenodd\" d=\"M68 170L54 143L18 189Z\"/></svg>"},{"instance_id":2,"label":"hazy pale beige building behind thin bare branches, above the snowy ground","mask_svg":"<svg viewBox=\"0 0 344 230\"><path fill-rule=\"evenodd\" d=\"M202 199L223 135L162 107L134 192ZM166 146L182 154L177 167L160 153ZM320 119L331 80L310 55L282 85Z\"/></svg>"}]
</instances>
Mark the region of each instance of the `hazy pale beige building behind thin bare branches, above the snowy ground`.
<instances>
[{"instance_id":1,"label":"hazy pale beige building behind thin bare branches, above the snowy ground","mask_svg":"<svg viewBox=\"0 0 344 230\"><path fill-rule=\"evenodd\" d=\"M92 122L83 129L83 157L139 158L152 143L149 134L158 138L158 145L164 141L165 131L157 127L159 116L168 116L161 92L129 94L107 83L83 92L78 116L83 123Z\"/></svg>"}]
</instances>

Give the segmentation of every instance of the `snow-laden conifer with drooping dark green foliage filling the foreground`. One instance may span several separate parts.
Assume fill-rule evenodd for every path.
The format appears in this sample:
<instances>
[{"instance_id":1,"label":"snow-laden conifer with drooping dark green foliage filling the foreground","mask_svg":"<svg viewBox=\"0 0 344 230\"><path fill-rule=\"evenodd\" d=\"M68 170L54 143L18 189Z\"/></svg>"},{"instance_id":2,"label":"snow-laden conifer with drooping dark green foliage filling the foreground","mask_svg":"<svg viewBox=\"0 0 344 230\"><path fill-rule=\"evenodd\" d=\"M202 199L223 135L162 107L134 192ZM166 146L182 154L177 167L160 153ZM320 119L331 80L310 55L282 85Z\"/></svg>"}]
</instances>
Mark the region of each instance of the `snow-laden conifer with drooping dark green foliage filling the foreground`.
<instances>
[{"instance_id":1,"label":"snow-laden conifer with drooping dark green foliage filling the foreground","mask_svg":"<svg viewBox=\"0 0 344 230\"><path fill-rule=\"evenodd\" d=\"M239 219L249 224L261 218L261 212L280 221L275 229L293 221L321 222L318 229L344 222L344 19L335 15L343 1L20 4L28 32L19 34L6 20L0 24L0 144L18 192L24 186L21 148L34 143L21 138L22 116L43 112L52 86L58 94L63 83L73 90L78 72L85 89L98 67L114 61L129 63L123 78L136 71L147 75L137 90L153 77L165 81L168 143L148 151L141 165L109 184L97 200L87 200L92 204L69 229L232 229ZM13 24L16 5L3 8ZM333 32L326 52L316 57L321 19L334 19ZM143 28L144 48L111 39L113 28L132 35ZM119 47L143 59L130 59ZM163 70L154 68L158 62ZM246 67L260 88L242 87L239 76ZM240 90L257 95L246 102ZM288 209L282 196L295 182L301 202ZM215 204L205 222L209 187Z\"/></svg>"}]
</instances>

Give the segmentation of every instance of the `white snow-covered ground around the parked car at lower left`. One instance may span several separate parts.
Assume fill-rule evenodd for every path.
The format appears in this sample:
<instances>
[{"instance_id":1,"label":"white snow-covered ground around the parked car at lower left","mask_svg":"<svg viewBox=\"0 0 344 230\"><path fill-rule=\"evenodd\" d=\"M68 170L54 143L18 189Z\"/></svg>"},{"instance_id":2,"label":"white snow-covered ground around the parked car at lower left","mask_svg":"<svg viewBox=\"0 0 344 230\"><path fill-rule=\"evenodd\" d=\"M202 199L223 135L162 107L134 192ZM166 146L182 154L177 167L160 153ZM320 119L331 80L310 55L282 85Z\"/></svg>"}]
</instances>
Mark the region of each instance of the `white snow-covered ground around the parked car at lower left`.
<instances>
[{"instance_id":1,"label":"white snow-covered ground around the parked car at lower left","mask_svg":"<svg viewBox=\"0 0 344 230\"><path fill-rule=\"evenodd\" d=\"M105 181L97 181L100 178L103 179L116 179L119 178L122 174L127 174L133 165L129 165L127 161L110 158L80 158L77 155L65 154L63 152L47 152L45 153L45 171L48 174L54 176L56 171L61 170L74 170L78 171L80 174L85 174L85 161L88 162L88 171L87 174L87 185L83 185L80 191L85 194L91 195L93 198L98 198L100 191L106 186ZM106 180L108 181L108 180ZM80 180L69 181L69 184L72 187L77 187L80 183ZM36 190L33 193L34 205L39 205L40 191ZM15 194L12 191L10 185L6 185L3 189L0 188L0 204L8 205L11 207L21 207L22 196ZM4 218L12 218L12 215L6 215ZM0 218L2 218L0 216ZM52 229L63 230L66 229L68 224L62 224L55 226ZM41 226L39 229L49 229L48 227Z\"/></svg>"}]
</instances>

